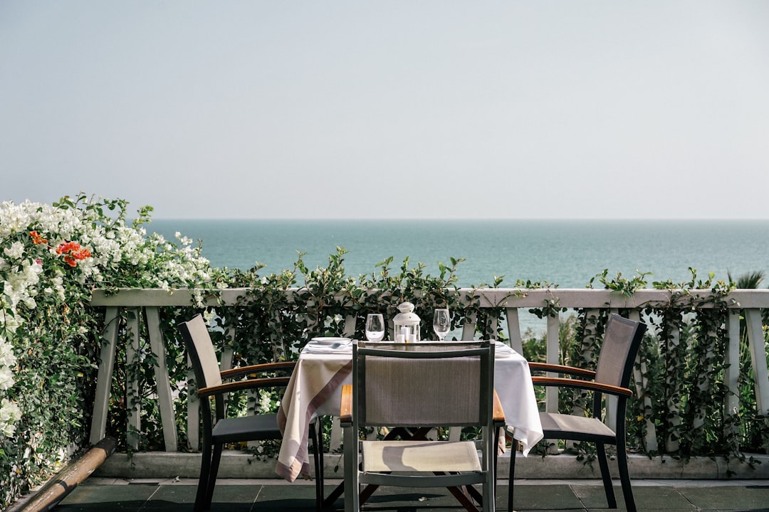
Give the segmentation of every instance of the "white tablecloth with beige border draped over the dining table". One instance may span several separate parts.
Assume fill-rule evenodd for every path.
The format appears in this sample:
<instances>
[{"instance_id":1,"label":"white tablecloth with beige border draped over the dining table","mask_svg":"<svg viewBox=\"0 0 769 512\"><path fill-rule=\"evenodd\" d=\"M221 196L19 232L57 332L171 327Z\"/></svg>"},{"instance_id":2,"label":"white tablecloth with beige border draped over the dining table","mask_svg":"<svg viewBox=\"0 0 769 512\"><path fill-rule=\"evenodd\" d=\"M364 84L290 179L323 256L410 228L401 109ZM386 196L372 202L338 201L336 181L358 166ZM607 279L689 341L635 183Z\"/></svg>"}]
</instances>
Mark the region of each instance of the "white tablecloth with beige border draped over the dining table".
<instances>
[{"instance_id":1,"label":"white tablecloth with beige border draped over the dining table","mask_svg":"<svg viewBox=\"0 0 769 512\"><path fill-rule=\"evenodd\" d=\"M497 343L494 389L504 410L504 421L521 442L524 455L542 438L537 399L528 362L508 345ZM318 415L338 416L341 386L352 380L352 348L310 353L305 349L291 375L278 409L283 442L275 471L288 481L310 474L309 423Z\"/></svg>"}]
</instances>

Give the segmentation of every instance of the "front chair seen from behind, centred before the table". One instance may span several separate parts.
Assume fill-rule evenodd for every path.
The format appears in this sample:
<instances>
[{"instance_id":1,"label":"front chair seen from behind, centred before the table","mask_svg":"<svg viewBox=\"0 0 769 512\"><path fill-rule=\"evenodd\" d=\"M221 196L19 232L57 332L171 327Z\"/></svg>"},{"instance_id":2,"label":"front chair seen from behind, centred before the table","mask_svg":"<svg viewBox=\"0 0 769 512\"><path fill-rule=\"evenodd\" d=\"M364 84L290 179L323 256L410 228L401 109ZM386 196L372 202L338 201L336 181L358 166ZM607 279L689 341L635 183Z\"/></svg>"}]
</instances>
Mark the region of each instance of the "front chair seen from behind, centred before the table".
<instances>
[{"instance_id":1,"label":"front chair seen from behind, centred before the table","mask_svg":"<svg viewBox=\"0 0 769 512\"><path fill-rule=\"evenodd\" d=\"M354 342L352 382L342 388L340 418L346 512L360 510L361 484L454 491L481 484L483 510L494 511L494 426L504 414L494 395L493 343ZM358 439L359 429L382 426L406 434ZM482 457L473 441L428 441L417 433L434 426L480 427Z\"/></svg>"}]
</instances>

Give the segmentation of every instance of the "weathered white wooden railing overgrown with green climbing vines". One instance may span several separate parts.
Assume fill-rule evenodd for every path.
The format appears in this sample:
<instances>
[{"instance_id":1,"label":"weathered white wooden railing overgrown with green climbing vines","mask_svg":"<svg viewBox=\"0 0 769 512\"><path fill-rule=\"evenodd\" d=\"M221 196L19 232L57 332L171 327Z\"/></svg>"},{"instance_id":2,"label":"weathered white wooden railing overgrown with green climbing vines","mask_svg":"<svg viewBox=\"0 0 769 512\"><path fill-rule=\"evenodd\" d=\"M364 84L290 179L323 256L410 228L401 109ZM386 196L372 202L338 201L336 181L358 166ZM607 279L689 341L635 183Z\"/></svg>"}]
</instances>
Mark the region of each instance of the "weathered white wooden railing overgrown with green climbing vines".
<instances>
[{"instance_id":1,"label":"weathered white wooden railing overgrown with green climbing vines","mask_svg":"<svg viewBox=\"0 0 769 512\"><path fill-rule=\"evenodd\" d=\"M206 300L207 306L227 308L234 306L238 299L245 295L245 289L226 289L218 296ZM295 293L297 290L289 290ZM118 319L121 310L132 310L134 315L128 315L127 325L123 332L128 333L126 343L126 357L133 361L139 346L139 322L146 322L151 350L158 355L158 365L155 367L155 381L157 385L158 408L161 412L161 421L165 438L166 451L176 451L178 448L177 433L174 423L172 402L172 388L168 377L168 368L165 365L165 342L161 335L160 316L158 308L167 306L189 307L193 304L193 297L198 296L194 290L174 290L168 292L159 289L123 289L117 294L106 294L97 290L92 296L92 306L104 306L105 310L105 345L98 367L98 382L93 410L93 423L91 429L91 442L95 443L104 438L109 403L109 390L111 388L112 373L115 364L115 356L118 347ZM470 300L478 300L481 308L503 308L504 318L511 346L522 353L521 347L521 322L519 312L528 309L542 308L548 304L567 309L619 309L628 311L631 319L640 319L641 309L647 306L667 307L677 304L695 304L691 313L696 314L698 309L713 307L709 299L713 294L709 290L667 291L642 289L631 296L623 296L610 290L598 289L460 289L459 295L464 304ZM750 346L753 376L755 382L755 395L758 414L769 415L769 377L767 377L767 352L764 342L763 325L761 322L761 309L769 309L769 290L740 289L732 291L724 299L729 314L726 320L726 329L729 337L729 345L726 354L727 370L725 384L729 391L724 408L734 411L739 401L738 383L740 380L739 365L739 339L740 318L744 315L747 323L747 338ZM355 316L348 315L345 321L345 333L351 335L355 332ZM547 318L547 362L558 363L559 355L559 329L561 318L558 315ZM234 333L230 333L234 336ZM474 319L468 317L464 325L462 339L472 339L475 335ZM674 338L676 333L674 333ZM677 338L676 338L677 339ZM255 340L257 342L258 340ZM231 367L231 351L224 351L221 355L221 368ZM644 365L641 361L640 365ZM636 374L637 384L641 384L641 371ZM191 377L191 373L189 374ZM636 386L641 389L641 385ZM126 389L138 390L138 382L126 382ZM649 400L639 396L641 400ZM546 398L548 411L558 411L558 394L550 392ZM127 438L129 446L138 447L138 437L135 432L141 431L140 415L134 408L128 408ZM190 447L198 447L198 406L196 401L188 404L188 443ZM646 438L644 439L647 451L657 449L657 434L654 423L647 421ZM338 444L338 432L331 434L331 444Z\"/></svg>"}]
</instances>

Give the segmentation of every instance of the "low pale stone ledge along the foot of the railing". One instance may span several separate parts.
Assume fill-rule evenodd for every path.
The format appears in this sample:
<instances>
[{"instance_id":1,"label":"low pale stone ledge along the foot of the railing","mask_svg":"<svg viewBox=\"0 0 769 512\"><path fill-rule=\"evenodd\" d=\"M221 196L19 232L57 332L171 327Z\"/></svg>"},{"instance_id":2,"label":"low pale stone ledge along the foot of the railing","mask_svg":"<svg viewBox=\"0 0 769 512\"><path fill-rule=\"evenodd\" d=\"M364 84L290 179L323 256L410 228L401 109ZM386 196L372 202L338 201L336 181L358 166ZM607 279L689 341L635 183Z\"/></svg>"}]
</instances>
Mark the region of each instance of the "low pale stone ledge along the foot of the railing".
<instances>
[{"instance_id":1,"label":"low pale stone ledge along the foot of the railing","mask_svg":"<svg viewBox=\"0 0 769 512\"><path fill-rule=\"evenodd\" d=\"M112 454L104 464L94 471L95 477L116 478L196 478L200 471L200 454L168 453L165 451L139 452L129 457L126 454ZM750 457L750 455L748 455ZM761 464L754 468L736 459L729 461L722 457L710 459L694 457L684 464L672 457L646 457L631 454L630 474L637 479L685 479L685 480L729 480L769 479L769 455L753 454ZM341 454L326 454L325 475L328 478L343 477ZM559 454L548 457L521 457L515 459L516 478L526 479L578 479L597 478L598 463L594 468L577 461L574 455ZM509 454L499 457L500 477L507 478L510 468ZM617 464L610 461L612 474L617 477ZM729 474L732 471L733 474ZM219 468L221 478L276 478L275 461L258 461L240 451L225 451Z\"/></svg>"}]
</instances>

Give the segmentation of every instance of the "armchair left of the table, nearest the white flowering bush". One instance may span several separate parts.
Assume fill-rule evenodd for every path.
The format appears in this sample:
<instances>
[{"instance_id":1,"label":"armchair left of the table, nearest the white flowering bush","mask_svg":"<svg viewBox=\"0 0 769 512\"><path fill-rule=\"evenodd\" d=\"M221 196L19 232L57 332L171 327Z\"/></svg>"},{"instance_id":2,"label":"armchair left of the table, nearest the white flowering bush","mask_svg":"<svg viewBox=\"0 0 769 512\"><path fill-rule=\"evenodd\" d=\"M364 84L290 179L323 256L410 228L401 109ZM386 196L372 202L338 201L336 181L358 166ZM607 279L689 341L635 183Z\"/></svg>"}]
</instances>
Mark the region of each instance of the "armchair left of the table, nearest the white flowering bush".
<instances>
[{"instance_id":1,"label":"armchair left of the table, nearest the white flowering bush","mask_svg":"<svg viewBox=\"0 0 769 512\"><path fill-rule=\"evenodd\" d=\"M216 485L216 474L221 460L221 449L225 443L241 441L263 441L282 439L278 420L274 414L251 415L227 418L225 395L231 391L259 388L285 388L294 369L295 362L272 362L219 371L218 359L211 343L211 336L201 315L179 325L185 339L187 351L195 371L198 398L203 417L203 456L198 480L198 494L195 497L195 512L209 510ZM275 374L285 374L275 376ZM257 377L258 375L269 375ZM232 378L243 378L223 382ZM215 398L215 421L211 418L209 398ZM320 420L310 425L310 438L315 448L315 507L321 510L323 502L323 444Z\"/></svg>"}]
</instances>

